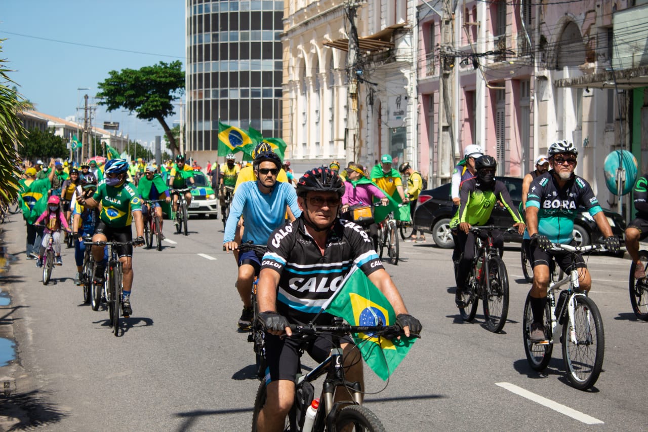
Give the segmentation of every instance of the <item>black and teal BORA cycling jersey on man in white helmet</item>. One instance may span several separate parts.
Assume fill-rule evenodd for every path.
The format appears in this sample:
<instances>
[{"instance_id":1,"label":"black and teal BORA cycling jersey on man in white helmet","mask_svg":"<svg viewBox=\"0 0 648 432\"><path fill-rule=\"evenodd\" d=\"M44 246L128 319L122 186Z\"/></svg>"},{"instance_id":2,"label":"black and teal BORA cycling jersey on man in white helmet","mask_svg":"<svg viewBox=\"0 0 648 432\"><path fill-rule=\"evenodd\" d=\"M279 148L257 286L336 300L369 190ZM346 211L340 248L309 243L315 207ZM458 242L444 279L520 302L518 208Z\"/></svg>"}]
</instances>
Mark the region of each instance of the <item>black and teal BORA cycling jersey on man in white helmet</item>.
<instances>
[{"instance_id":1,"label":"black and teal BORA cycling jersey on man in white helmet","mask_svg":"<svg viewBox=\"0 0 648 432\"><path fill-rule=\"evenodd\" d=\"M538 208L538 232L553 243L572 241L573 218L581 206L592 216L603 211L583 177L573 176L561 188L550 171L536 177L529 186L527 208Z\"/></svg>"}]
</instances>

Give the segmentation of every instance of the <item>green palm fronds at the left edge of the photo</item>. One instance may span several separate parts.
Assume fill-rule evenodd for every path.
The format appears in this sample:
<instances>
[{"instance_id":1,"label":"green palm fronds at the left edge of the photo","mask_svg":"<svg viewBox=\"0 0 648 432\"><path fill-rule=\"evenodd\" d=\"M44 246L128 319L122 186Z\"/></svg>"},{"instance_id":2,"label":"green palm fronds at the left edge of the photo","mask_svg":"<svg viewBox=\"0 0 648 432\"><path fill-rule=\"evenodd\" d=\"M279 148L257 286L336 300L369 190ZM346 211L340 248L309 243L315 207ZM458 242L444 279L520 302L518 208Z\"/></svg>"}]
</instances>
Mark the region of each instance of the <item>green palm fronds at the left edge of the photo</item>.
<instances>
[{"instance_id":1,"label":"green palm fronds at the left edge of the photo","mask_svg":"<svg viewBox=\"0 0 648 432\"><path fill-rule=\"evenodd\" d=\"M5 39L0 39L0 53ZM18 114L29 108L16 91L16 84L8 77L6 59L0 58L0 203L8 204L16 199L18 194L19 154L17 143L26 136L23 122Z\"/></svg>"}]
</instances>

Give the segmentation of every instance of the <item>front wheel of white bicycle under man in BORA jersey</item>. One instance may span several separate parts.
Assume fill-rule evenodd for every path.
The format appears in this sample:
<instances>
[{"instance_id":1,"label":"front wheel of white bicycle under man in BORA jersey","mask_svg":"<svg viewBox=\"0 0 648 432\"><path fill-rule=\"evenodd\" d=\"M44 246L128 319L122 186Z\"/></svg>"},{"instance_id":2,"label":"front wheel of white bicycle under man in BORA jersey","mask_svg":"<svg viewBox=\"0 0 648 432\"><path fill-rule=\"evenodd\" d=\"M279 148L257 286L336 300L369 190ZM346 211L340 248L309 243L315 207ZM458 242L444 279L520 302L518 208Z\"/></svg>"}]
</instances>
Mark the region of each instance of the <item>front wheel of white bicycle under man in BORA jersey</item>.
<instances>
[{"instance_id":1,"label":"front wheel of white bicycle under man in BORA jersey","mask_svg":"<svg viewBox=\"0 0 648 432\"><path fill-rule=\"evenodd\" d=\"M605 355L603 318L594 300L584 295L573 296L576 344L570 338L570 319L562 327L562 361L567 378L579 390L590 389L599 378Z\"/></svg>"}]
</instances>

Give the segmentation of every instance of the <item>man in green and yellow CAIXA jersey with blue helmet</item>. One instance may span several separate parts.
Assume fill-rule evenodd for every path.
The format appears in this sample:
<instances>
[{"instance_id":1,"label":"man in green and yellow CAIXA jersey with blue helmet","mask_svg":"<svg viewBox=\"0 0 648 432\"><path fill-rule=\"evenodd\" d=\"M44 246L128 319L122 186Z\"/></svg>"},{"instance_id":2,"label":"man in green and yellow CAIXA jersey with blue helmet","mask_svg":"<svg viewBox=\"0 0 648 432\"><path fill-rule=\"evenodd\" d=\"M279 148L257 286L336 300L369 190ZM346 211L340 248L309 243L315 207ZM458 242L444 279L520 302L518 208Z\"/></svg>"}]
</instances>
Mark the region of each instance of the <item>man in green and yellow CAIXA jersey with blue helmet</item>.
<instances>
[{"instance_id":1,"label":"man in green and yellow CAIXA jersey with blue helmet","mask_svg":"<svg viewBox=\"0 0 648 432\"><path fill-rule=\"evenodd\" d=\"M144 245L144 222L142 220L141 198L133 186L126 181L128 162L124 159L111 159L106 163L106 178L97 186L91 198L77 197L82 206L93 209L101 204L100 221L92 237L93 242L117 241L128 243L133 239L132 219L135 219L134 246ZM133 245L117 246L119 261L123 265L122 313L130 317L133 313L130 305L130 293L133 286ZM92 256L95 259L95 283L104 282L104 247L93 245Z\"/></svg>"}]
</instances>

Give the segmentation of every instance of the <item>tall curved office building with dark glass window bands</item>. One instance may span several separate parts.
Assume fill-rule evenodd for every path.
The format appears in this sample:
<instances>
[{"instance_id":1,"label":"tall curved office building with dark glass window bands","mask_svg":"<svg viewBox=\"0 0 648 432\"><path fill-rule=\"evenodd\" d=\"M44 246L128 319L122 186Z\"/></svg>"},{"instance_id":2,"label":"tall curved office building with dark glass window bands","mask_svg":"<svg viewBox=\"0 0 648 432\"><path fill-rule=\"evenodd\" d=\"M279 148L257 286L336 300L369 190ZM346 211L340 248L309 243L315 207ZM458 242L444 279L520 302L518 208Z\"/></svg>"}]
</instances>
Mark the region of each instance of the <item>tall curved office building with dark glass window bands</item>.
<instances>
[{"instance_id":1,"label":"tall curved office building with dark glass window bands","mask_svg":"<svg viewBox=\"0 0 648 432\"><path fill-rule=\"evenodd\" d=\"M217 150L219 119L281 137L283 1L185 5L187 150Z\"/></svg>"}]
</instances>

